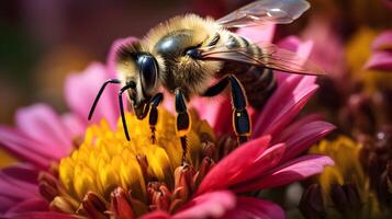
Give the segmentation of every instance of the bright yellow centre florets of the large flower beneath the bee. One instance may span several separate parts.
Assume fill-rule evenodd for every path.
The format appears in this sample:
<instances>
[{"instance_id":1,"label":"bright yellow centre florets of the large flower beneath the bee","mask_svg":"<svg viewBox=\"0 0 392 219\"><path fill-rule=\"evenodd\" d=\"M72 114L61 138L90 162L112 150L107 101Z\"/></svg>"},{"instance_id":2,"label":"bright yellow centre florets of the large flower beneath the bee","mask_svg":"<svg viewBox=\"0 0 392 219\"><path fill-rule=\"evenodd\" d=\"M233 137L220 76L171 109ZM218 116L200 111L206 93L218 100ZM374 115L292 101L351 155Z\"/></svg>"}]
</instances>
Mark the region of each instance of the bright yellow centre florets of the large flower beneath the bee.
<instances>
[{"instance_id":1,"label":"bright yellow centre florets of the large flower beneath the bee","mask_svg":"<svg viewBox=\"0 0 392 219\"><path fill-rule=\"evenodd\" d=\"M199 169L202 138L215 140L212 128L195 114L191 114L192 129L188 134L189 165ZM124 136L121 123L112 130L107 120L90 126L78 149L64 158L58 166L59 189L52 201L55 209L71 208L78 214L81 201L93 193L103 203L110 203L117 187L132 193L132 198L148 201L148 183L159 182L175 187L175 170L181 165L182 148L176 136L175 117L159 110L156 142L153 143L148 119L138 120L126 114L131 141ZM68 207L64 207L67 203ZM148 205L148 204L147 204Z\"/></svg>"}]
</instances>

